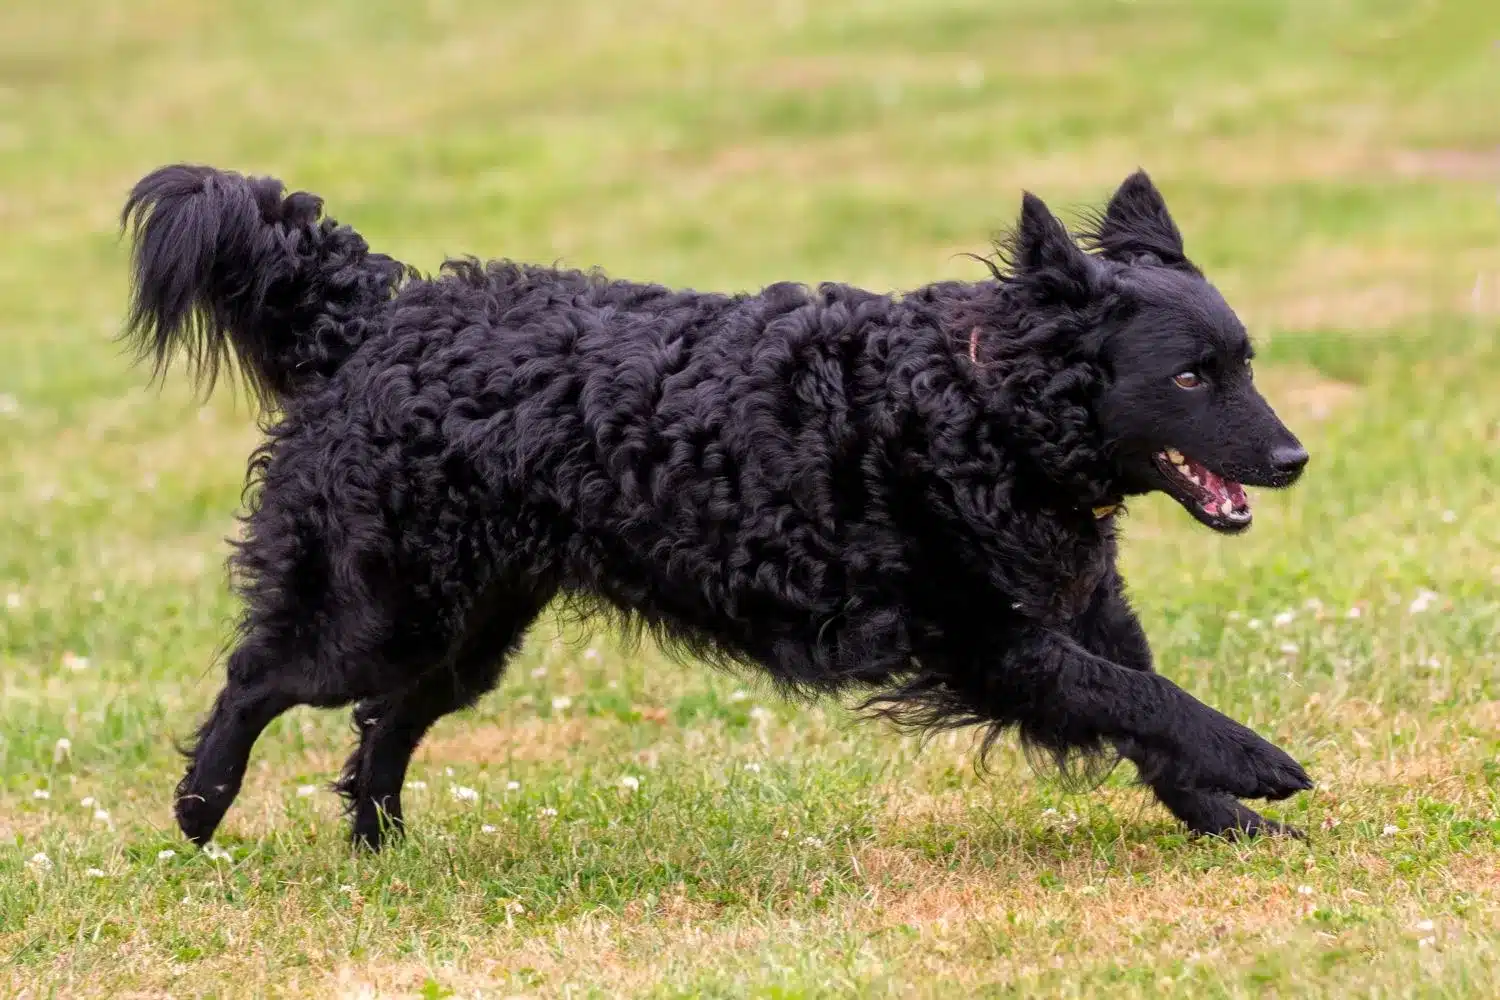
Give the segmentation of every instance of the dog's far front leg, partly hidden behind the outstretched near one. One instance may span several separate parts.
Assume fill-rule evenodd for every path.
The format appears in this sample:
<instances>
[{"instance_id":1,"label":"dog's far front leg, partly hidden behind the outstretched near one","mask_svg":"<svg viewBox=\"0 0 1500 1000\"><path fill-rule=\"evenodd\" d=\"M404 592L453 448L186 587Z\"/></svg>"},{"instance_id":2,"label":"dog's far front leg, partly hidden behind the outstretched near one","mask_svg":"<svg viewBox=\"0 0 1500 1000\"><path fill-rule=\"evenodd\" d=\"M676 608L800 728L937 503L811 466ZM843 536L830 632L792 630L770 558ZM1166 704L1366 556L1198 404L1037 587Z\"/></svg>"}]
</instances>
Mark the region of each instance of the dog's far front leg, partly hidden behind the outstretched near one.
<instances>
[{"instance_id":1,"label":"dog's far front leg, partly hidden behind the outstretched near one","mask_svg":"<svg viewBox=\"0 0 1500 1000\"><path fill-rule=\"evenodd\" d=\"M1088 609L1074 621L1072 634L1089 652L1106 660L1112 660L1131 670L1144 670L1148 673L1154 670L1146 630L1142 628L1140 619L1125 597L1124 585L1114 573L1100 585ZM1142 778L1156 793L1156 799L1194 834L1216 837L1252 837L1257 834L1302 837L1302 831L1294 826L1268 820L1222 792L1173 786L1160 775L1161 768L1150 759L1149 753L1137 753L1136 757L1130 757L1131 751L1143 750L1138 745L1126 744L1118 747L1118 750L1122 756L1131 759L1131 763L1140 771ZM1158 777L1152 780L1149 777L1152 774Z\"/></svg>"}]
</instances>

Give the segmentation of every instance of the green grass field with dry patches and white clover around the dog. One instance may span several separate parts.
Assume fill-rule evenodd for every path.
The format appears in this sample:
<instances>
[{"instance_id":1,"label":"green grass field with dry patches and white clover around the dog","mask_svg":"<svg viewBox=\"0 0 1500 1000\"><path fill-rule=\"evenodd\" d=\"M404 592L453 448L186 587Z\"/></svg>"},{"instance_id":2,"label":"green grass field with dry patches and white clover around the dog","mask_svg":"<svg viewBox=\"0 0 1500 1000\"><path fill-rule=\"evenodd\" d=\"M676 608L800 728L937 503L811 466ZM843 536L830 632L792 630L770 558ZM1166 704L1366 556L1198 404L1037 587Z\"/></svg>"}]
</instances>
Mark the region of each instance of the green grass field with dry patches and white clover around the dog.
<instances>
[{"instance_id":1,"label":"green grass field with dry patches and white clover around the dog","mask_svg":"<svg viewBox=\"0 0 1500 1000\"><path fill-rule=\"evenodd\" d=\"M0 993L1500 996L1497 94L1485 0L6 4ZM1125 562L1161 669L1306 762L1270 813L1312 840L542 628L404 844L351 853L346 718L298 711L190 850L256 435L111 343L116 213L176 159L423 267L726 289L972 277L1022 187L1144 165L1314 460L1245 538L1136 504Z\"/></svg>"}]
</instances>

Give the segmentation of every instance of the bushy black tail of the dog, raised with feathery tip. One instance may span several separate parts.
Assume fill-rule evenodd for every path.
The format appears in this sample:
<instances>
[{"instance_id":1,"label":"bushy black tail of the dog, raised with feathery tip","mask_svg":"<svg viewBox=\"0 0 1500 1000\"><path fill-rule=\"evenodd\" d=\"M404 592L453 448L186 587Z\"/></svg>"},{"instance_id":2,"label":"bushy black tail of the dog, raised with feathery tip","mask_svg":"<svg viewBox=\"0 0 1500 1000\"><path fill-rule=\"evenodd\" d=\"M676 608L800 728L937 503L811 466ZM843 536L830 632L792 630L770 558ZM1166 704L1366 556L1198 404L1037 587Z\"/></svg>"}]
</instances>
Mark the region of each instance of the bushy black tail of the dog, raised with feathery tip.
<instances>
[{"instance_id":1,"label":"bushy black tail of the dog, raised with feathery tip","mask_svg":"<svg viewBox=\"0 0 1500 1000\"><path fill-rule=\"evenodd\" d=\"M134 295L124 337L153 379L182 351L212 390L234 354L262 405L332 375L412 271L272 177L164 166L124 202Z\"/></svg>"}]
</instances>

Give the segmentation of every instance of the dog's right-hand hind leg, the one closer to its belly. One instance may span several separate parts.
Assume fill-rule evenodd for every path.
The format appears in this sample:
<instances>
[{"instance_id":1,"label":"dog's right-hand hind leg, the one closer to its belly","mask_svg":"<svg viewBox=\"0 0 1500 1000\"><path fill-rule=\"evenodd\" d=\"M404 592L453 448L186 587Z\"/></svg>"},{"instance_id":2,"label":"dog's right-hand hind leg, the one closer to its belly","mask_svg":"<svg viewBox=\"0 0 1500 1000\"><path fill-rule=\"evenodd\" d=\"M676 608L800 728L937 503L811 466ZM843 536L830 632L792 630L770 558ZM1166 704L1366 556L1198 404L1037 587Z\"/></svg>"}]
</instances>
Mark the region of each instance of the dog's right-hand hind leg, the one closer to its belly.
<instances>
[{"instance_id":1,"label":"dog's right-hand hind leg, the one closer to its belly","mask_svg":"<svg viewBox=\"0 0 1500 1000\"><path fill-rule=\"evenodd\" d=\"M417 744L440 718L468 708L495 687L544 600L494 606L456 651L390 697L362 702L354 712L360 745L339 780L354 819L354 841L380 850L387 831L404 825L400 789Z\"/></svg>"}]
</instances>

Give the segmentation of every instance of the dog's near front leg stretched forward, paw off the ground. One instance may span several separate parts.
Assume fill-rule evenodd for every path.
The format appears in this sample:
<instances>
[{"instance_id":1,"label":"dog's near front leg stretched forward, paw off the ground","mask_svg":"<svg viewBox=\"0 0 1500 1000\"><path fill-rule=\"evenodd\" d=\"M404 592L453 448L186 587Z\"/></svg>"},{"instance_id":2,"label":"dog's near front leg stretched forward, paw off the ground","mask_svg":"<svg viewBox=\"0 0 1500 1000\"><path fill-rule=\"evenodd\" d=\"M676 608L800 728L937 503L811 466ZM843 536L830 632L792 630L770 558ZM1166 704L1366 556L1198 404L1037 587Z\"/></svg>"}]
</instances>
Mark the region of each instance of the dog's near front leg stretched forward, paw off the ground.
<instances>
[{"instance_id":1,"label":"dog's near front leg stretched forward, paw off the ground","mask_svg":"<svg viewBox=\"0 0 1500 1000\"><path fill-rule=\"evenodd\" d=\"M1154 787L1240 799L1284 799L1312 787L1286 751L1160 673L1106 660L1052 628L1012 636L984 696L996 715L1017 718L1022 733L1048 750L1113 744ZM1182 805L1180 796L1173 801Z\"/></svg>"}]
</instances>

